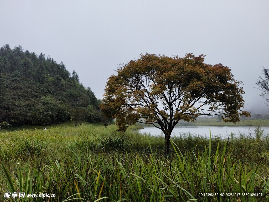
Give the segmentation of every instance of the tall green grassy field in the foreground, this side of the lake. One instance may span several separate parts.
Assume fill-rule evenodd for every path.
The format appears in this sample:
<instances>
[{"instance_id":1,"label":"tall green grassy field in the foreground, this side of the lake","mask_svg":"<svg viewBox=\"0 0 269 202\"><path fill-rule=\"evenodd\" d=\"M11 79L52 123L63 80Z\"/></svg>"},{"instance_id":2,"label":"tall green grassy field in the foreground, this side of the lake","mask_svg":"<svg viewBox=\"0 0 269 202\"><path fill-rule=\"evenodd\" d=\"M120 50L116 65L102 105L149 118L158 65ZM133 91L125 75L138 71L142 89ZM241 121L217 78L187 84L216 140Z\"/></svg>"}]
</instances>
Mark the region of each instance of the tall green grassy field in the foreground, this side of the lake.
<instances>
[{"instance_id":1,"label":"tall green grassy field in the foreground, this side of the lake","mask_svg":"<svg viewBox=\"0 0 269 202\"><path fill-rule=\"evenodd\" d=\"M5 192L55 194L12 201L269 201L269 137L229 141L191 134L126 133L116 126L70 123L0 132L0 201ZM208 128L209 133L209 128ZM201 194L218 196L200 196ZM259 197L220 193L261 193Z\"/></svg>"}]
</instances>

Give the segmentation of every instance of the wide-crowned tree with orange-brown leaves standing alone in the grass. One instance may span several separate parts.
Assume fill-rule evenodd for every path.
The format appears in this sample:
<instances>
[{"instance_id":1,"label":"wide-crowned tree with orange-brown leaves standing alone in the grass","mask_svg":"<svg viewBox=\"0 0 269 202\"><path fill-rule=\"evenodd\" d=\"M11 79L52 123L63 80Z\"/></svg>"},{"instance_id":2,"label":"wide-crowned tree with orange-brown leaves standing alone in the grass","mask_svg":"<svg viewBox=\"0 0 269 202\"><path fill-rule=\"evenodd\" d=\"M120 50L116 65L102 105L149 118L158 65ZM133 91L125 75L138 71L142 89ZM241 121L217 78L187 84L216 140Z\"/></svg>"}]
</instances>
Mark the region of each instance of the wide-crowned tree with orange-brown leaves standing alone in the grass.
<instances>
[{"instance_id":1,"label":"wide-crowned tree with orange-brown leaves standing alone in the grass","mask_svg":"<svg viewBox=\"0 0 269 202\"><path fill-rule=\"evenodd\" d=\"M236 123L250 116L231 69L204 63L205 55L180 58L141 54L108 78L101 111L116 119L118 131L132 124L151 124L165 135L170 153L171 133L180 120L195 121L199 115L222 116Z\"/></svg>"}]
</instances>

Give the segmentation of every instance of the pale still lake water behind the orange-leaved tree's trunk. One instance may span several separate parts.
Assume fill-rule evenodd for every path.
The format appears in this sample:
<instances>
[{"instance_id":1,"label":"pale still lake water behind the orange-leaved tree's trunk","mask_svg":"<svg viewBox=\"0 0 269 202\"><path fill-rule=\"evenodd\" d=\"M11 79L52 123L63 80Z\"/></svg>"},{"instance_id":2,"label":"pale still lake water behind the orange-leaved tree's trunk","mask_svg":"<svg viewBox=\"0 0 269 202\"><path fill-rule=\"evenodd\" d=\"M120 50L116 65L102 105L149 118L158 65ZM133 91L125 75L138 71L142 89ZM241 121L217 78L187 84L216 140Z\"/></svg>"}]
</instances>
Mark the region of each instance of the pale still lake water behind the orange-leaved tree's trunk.
<instances>
[{"instance_id":1,"label":"pale still lake water behind the orange-leaved tree's trunk","mask_svg":"<svg viewBox=\"0 0 269 202\"><path fill-rule=\"evenodd\" d=\"M261 126L264 130L263 135L269 133L269 126ZM230 137L231 133L235 136L239 136L240 133L245 133L245 135L250 135L254 137L255 126L249 128L249 126L210 126L211 135L220 135L222 138ZM162 131L155 127L145 127L139 130L140 133L148 133L151 135L163 135ZM182 133L191 133L193 135L202 135L204 137L209 137L209 126L179 126L175 127L172 131L172 136L179 136Z\"/></svg>"}]
</instances>

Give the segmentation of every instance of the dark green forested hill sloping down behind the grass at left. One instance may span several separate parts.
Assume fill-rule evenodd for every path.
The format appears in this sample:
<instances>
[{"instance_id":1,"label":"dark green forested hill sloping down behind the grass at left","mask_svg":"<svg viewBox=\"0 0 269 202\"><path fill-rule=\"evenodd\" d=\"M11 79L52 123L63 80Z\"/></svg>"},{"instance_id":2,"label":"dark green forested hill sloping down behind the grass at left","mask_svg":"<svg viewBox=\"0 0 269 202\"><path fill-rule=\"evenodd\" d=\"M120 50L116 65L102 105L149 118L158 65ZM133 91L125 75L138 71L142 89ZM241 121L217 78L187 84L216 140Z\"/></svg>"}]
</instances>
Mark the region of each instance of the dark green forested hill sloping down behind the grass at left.
<instances>
[{"instance_id":1,"label":"dark green forested hill sloping down behind the grass at left","mask_svg":"<svg viewBox=\"0 0 269 202\"><path fill-rule=\"evenodd\" d=\"M63 62L21 46L0 48L0 123L54 124L70 120L72 109L83 109L89 122L101 121L99 102Z\"/></svg>"}]
</instances>

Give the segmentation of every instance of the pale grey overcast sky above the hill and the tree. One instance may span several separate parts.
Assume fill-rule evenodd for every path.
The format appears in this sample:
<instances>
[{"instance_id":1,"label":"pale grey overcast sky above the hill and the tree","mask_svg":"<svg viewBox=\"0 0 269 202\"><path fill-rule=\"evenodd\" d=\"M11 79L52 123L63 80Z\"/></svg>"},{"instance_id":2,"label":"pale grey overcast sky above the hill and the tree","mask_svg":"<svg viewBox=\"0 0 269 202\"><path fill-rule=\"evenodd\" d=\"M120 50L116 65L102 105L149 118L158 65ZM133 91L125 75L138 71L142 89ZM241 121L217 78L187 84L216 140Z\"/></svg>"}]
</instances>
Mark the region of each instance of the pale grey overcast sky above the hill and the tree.
<instances>
[{"instance_id":1,"label":"pale grey overcast sky above the hill and the tree","mask_svg":"<svg viewBox=\"0 0 269 202\"><path fill-rule=\"evenodd\" d=\"M205 54L243 82L249 109L263 101L252 86L269 68L268 10L267 0L2 1L0 46L63 61L97 98L118 65L140 53Z\"/></svg>"}]
</instances>

